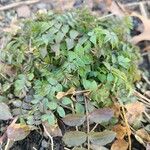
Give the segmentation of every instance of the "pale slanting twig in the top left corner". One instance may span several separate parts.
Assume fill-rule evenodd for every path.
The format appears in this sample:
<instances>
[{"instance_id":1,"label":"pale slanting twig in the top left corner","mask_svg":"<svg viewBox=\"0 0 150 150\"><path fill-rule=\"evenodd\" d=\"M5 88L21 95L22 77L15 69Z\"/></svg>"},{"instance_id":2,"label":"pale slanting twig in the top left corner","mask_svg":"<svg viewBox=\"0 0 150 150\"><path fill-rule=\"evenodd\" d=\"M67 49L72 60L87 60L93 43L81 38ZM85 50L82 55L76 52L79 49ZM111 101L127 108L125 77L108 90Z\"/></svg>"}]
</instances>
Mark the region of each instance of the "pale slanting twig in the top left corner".
<instances>
[{"instance_id":1,"label":"pale slanting twig in the top left corner","mask_svg":"<svg viewBox=\"0 0 150 150\"><path fill-rule=\"evenodd\" d=\"M21 2L15 2L6 6L1 6L0 7L0 11L4 11L4 10L8 10L8 9L12 9L21 5L31 5L31 4L35 4L40 2L40 0L28 0L28 1L21 1Z\"/></svg>"}]
</instances>

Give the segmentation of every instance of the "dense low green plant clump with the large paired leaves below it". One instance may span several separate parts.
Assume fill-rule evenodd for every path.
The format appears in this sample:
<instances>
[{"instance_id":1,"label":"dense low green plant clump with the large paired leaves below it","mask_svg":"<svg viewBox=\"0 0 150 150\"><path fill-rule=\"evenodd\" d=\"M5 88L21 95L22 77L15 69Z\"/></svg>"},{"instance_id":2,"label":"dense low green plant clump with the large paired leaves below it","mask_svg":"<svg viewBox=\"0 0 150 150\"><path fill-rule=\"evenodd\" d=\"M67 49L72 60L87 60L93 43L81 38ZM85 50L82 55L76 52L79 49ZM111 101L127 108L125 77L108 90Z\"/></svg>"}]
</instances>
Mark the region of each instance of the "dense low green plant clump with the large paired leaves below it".
<instances>
[{"instance_id":1,"label":"dense low green plant clump with the large paired leaves below it","mask_svg":"<svg viewBox=\"0 0 150 150\"><path fill-rule=\"evenodd\" d=\"M130 17L101 19L86 9L25 20L0 53L1 100L11 101L14 115L32 125L63 118L69 126L80 126L87 112L92 122L108 122L113 113L103 107L111 107L115 97L131 102L140 78L131 29ZM72 134L67 134L70 146L86 141L84 132L76 131L77 143L68 142ZM115 137L112 131L93 133L90 141L96 143L99 134L108 135L108 143Z\"/></svg>"}]
</instances>

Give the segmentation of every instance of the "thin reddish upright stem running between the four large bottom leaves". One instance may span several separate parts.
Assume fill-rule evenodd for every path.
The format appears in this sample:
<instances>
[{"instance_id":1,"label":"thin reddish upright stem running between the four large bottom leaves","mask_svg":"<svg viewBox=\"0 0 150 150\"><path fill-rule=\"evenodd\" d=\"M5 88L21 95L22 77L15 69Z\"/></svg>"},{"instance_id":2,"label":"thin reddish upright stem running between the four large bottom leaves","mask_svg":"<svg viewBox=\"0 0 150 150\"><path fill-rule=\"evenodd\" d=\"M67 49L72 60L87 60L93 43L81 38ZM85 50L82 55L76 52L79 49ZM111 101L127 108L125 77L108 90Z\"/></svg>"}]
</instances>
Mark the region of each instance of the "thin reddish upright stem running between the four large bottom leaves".
<instances>
[{"instance_id":1,"label":"thin reddish upright stem running between the four large bottom leaves","mask_svg":"<svg viewBox=\"0 0 150 150\"><path fill-rule=\"evenodd\" d=\"M90 132L90 126L89 126L89 117L88 117L88 105L87 105L87 99L86 96L84 96L84 103L85 103L85 111L86 111L86 123L87 123L87 134L89 134ZM90 149L90 140L89 140L89 136L87 136L87 147L88 150Z\"/></svg>"}]
</instances>

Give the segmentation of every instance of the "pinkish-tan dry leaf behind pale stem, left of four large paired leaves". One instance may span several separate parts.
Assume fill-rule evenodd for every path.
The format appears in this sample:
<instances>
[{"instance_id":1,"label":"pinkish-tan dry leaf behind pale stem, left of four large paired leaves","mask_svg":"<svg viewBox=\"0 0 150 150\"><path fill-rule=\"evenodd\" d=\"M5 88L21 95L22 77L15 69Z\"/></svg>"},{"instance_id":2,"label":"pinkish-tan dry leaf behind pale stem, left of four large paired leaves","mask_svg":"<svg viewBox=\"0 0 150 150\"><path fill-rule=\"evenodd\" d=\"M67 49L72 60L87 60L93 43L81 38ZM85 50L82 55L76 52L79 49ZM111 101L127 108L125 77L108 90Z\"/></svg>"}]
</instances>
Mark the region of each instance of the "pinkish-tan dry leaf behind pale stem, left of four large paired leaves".
<instances>
[{"instance_id":1,"label":"pinkish-tan dry leaf behind pale stem, left of four large paired leaves","mask_svg":"<svg viewBox=\"0 0 150 150\"><path fill-rule=\"evenodd\" d=\"M43 125L45 126L47 132L52 137L56 137L56 136L62 137L62 132L61 132L61 130L57 124L56 125L50 125L48 122L44 122Z\"/></svg>"}]
</instances>

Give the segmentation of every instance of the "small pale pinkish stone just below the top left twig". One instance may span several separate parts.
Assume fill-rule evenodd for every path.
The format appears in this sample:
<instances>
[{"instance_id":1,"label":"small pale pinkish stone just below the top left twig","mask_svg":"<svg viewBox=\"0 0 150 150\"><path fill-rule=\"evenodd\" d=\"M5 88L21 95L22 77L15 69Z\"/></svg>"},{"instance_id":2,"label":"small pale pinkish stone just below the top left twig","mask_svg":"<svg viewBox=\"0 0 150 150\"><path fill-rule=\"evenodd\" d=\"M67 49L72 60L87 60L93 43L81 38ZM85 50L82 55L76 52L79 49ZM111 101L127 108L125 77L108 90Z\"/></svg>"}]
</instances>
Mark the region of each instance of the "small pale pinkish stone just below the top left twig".
<instances>
[{"instance_id":1,"label":"small pale pinkish stone just below the top left twig","mask_svg":"<svg viewBox=\"0 0 150 150\"><path fill-rule=\"evenodd\" d=\"M30 17L30 8L26 5L17 8L18 17L27 18Z\"/></svg>"}]
</instances>

